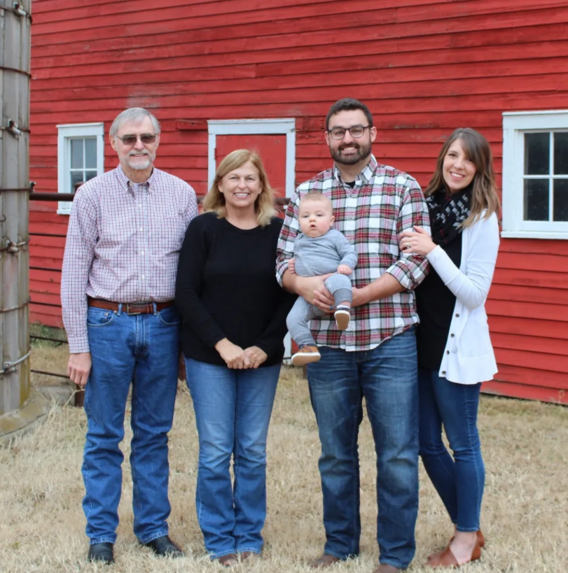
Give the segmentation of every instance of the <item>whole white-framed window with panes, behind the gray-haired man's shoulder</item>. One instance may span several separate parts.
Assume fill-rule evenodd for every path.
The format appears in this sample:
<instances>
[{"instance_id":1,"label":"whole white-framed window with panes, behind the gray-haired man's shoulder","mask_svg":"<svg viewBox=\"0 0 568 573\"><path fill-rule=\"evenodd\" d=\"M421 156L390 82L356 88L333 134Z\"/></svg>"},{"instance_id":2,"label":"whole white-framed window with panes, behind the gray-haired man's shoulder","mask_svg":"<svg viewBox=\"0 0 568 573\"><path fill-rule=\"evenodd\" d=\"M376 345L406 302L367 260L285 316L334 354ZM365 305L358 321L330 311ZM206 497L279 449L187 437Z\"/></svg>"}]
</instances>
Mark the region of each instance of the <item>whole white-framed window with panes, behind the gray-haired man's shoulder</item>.
<instances>
[{"instance_id":1,"label":"whole white-framed window with panes, behind the gray-haired man's shoulder","mask_svg":"<svg viewBox=\"0 0 568 573\"><path fill-rule=\"evenodd\" d=\"M57 191L74 193L84 183L104 173L104 124L58 125ZM71 201L60 201L57 213L71 213Z\"/></svg>"}]
</instances>

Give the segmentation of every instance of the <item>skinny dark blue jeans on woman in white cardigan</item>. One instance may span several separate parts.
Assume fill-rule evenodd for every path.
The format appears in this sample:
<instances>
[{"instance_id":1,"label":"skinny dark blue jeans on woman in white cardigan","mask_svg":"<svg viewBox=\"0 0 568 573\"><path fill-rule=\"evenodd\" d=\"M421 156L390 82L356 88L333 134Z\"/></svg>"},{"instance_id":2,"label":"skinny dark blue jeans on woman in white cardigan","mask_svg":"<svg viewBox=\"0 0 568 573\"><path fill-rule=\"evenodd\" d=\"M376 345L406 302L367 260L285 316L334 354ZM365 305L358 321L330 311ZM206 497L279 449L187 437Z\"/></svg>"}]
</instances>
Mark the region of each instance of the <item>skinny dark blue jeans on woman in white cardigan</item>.
<instances>
[{"instance_id":1,"label":"skinny dark blue jeans on woman in white cardigan","mask_svg":"<svg viewBox=\"0 0 568 573\"><path fill-rule=\"evenodd\" d=\"M477 531L485 466L477 412L481 384L457 384L420 369L420 456L458 531ZM442 425L454 457L442 441Z\"/></svg>"}]
</instances>

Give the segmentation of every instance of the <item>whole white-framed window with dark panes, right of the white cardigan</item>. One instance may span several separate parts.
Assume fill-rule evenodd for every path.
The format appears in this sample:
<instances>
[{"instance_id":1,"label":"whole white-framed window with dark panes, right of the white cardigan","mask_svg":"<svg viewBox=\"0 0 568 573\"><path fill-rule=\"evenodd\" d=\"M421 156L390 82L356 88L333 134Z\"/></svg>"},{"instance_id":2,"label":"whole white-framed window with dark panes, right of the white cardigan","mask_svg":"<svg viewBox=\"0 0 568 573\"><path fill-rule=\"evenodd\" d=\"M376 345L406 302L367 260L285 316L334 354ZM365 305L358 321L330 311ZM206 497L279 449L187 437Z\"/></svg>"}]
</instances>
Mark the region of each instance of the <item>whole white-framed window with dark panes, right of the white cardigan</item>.
<instances>
[{"instance_id":1,"label":"whole white-framed window with dark panes, right of the white cardigan","mask_svg":"<svg viewBox=\"0 0 568 573\"><path fill-rule=\"evenodd\" d=\"M503 114L502 236L568 239L568 111Z\"/></svg>"}]
</instances>

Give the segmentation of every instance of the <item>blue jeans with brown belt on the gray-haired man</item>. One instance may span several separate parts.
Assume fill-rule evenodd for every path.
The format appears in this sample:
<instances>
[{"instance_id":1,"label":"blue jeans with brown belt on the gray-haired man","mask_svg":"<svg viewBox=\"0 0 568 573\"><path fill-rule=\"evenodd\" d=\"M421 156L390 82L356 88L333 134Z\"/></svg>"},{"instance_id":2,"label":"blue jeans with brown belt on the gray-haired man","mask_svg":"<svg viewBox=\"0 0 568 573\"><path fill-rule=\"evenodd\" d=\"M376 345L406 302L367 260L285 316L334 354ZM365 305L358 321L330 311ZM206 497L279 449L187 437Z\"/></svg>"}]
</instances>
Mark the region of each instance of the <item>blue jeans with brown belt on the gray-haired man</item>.
<instances>
[{"instance_id":1,"label":"blue jeans with brown belt on the gray-haired man","mask_svg":"<svg viewBox=\"0 0 568 573\"><path fill-rule=\"evenodd\" d=\"M92 370L85 386L87 441L83 511L90 543L116 542L124 456L124 418L132 383L134 534L141 543L167 535L167 432L177 390L179 328L174 306L155 314L88 310Z\"/></svg>"}]
</instances>

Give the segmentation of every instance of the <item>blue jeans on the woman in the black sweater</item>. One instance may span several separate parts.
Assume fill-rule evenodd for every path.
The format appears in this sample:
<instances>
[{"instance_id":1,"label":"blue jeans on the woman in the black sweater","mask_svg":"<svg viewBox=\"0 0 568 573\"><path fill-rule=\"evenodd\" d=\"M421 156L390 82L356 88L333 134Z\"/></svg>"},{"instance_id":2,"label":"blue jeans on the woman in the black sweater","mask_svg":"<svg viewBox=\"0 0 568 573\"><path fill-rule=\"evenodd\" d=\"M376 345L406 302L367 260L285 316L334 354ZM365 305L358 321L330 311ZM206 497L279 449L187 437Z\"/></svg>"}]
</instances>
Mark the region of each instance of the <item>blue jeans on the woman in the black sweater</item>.
<instances>
[{"instance_id":1,"label":"blue jeans on the woman in the black sweater","mask_svg":"<svg viewBox=\"0 0 568 573\"><path fill-rule=\"evenodd\" d=\"M233 370L187 358L186 371L199 434L195 506L205 549L212 558L260 553L266 437L280 365Z\"/></svg>"}]
</instances>

